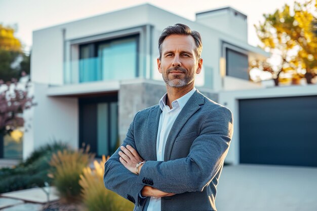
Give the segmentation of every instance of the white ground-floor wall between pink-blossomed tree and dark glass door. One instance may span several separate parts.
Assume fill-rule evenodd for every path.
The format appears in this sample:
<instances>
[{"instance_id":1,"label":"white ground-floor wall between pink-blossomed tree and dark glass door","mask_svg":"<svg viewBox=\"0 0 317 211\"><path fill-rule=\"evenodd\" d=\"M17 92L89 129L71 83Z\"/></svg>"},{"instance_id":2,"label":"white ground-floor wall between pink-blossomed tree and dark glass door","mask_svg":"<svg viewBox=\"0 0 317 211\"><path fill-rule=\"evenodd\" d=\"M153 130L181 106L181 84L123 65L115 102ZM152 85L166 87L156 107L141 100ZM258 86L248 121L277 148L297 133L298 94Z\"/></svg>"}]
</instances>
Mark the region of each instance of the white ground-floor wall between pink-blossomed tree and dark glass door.
<instances>
[{"instance_id":1,"label":"white ground-floor wall between pink-blossomed tree and dark glass door","mask_svg":"<svg viewBox=\"0 0 317 211\"><path fill-rule=\"evenodd\" d=\"M24 113L25 125L30 128L24 134L23 159L36 148L54 141L62 141L78 148L77 98L48 97L48 86L33 83L34 102Z\"/></svg>"}]
</instances>

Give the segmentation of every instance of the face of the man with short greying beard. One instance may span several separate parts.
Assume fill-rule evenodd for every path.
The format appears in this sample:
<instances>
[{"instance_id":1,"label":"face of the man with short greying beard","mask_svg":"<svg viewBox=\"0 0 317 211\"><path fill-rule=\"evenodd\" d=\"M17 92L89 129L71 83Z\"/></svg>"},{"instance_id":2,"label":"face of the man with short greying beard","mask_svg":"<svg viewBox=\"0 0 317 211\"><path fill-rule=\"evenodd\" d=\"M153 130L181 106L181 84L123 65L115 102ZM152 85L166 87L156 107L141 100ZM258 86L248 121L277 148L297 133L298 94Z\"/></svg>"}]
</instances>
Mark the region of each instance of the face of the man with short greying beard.
<instances>
[{"instance_id":1,"label":"face of the man with short greying beard","mask_svg":"<svg viewBox=\"0 0 317 211\"><path fill-rule=\"evenodd\" d=\"M172 34L162 44L161 60L157 59L157 68L170 87L185 87L199 74L203 60L196 58L195 41L190 35Z\"/></svg>"}]
</instances>

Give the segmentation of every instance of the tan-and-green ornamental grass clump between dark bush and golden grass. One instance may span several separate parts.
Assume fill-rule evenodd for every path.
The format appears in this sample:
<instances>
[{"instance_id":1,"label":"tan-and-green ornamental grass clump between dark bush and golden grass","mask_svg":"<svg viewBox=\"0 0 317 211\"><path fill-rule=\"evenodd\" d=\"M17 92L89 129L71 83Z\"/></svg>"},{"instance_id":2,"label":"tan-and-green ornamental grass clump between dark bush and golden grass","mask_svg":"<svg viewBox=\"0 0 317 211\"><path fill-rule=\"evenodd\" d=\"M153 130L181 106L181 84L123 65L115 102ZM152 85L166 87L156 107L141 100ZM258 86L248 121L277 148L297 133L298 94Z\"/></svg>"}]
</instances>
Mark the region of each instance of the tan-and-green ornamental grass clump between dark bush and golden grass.
<instances>
[{"instance_id":1,"label":"tan-and-green ornamental grass clump between dark bush and golden grass","mask_svg":"<svg viewBox=\"0 0 317 211\"><path fill-rule=\"evenodd\" d=\"M60 197L66 201L78 199L81 186L78 184L84 168L93 160L94 154L88 153L89 147L78 151L58 151L52 155L50 176Z\"/></svg>"}]
</instances>

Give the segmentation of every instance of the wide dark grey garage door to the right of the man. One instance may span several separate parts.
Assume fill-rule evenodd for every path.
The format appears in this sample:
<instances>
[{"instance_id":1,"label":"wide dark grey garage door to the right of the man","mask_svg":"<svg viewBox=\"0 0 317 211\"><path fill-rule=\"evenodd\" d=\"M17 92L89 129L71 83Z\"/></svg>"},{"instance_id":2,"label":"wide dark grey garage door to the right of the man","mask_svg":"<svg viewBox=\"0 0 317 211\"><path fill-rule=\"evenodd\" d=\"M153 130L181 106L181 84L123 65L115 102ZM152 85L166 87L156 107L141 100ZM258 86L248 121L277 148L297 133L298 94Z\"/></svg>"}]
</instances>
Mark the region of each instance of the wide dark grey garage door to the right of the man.
<instances>
[{"instance_id":1,"label":"wide dark grey garage door to the right of the man","mask_svg":"<svg viewBox=\"0 0 317 211\"><path fill-rule=\"evenodd\" d=\"M240 162L317 166L317 96L239 101Z\"/></svg>"}]
</instances>

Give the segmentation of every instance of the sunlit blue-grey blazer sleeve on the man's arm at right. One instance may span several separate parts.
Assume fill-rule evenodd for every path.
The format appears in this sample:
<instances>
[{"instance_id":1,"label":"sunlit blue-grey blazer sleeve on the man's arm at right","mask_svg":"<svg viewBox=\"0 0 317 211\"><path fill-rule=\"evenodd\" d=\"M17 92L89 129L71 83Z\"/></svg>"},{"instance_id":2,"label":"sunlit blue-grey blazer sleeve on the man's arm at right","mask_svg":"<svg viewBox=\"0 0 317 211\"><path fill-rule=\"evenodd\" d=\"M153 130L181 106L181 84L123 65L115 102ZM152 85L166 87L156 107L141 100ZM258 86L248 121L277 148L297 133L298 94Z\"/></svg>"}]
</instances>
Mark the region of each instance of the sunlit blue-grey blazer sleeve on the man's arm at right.
<instances>
[{"instance_id":1,"label":"sunlit blue-grey blazer sleeve on the man's arm at right","mask_svg":"<svg viewBox=\"0 0 317 211\"><path fill-rule=\"evenodd\" d=\"M205 112L200 135L187 157L169 161L147 161L138 184L168 193L203 191L221 169L233 133L232 113L223 106Z\"/></svg>"}]
</instances>

